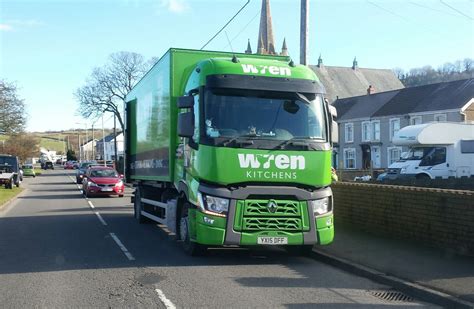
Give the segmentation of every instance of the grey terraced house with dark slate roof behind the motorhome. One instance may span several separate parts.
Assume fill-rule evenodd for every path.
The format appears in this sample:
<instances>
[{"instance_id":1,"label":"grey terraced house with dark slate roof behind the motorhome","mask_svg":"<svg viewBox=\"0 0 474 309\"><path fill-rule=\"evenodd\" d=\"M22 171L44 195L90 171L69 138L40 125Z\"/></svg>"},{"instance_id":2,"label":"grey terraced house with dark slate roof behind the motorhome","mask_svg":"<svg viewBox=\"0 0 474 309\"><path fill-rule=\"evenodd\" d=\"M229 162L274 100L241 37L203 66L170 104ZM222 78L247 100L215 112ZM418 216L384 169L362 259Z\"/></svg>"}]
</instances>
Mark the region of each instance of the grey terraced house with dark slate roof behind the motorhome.
<instances>
[{"instance_id":1,"label":"grey terraced house with dark slate roof behind the motorhome","mask_svg":"<svg viewBox=\"0 0 474 309\"><path fill-rule=\"evenodd\" d=\"M432 121L474 121L474 79L403 88L338 99L342 169L386 168L407 149L392 144L402 127Z\"/></svg>"}]
</instances>

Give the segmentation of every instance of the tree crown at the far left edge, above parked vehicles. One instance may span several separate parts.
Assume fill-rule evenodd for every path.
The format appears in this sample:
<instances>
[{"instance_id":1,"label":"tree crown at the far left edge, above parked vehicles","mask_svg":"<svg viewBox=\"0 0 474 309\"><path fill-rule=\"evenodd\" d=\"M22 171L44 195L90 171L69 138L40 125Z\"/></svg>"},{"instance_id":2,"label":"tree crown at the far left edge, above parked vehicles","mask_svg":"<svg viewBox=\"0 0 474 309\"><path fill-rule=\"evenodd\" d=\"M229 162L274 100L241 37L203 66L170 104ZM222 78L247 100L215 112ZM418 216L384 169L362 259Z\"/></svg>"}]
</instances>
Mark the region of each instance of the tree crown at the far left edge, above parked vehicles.
<instances>
[{"instance_id":1,"label":"tree crown at the far left edge, above parked vehicles","mask_svg":"<svg viewBox=\"0 0 474 309\"><path fill-rule=\"evenodd\" d=\"M25 125L25 103L18 98L16 86L0 80L0 133L23 132Z\"/></svg>"}]
</instances>

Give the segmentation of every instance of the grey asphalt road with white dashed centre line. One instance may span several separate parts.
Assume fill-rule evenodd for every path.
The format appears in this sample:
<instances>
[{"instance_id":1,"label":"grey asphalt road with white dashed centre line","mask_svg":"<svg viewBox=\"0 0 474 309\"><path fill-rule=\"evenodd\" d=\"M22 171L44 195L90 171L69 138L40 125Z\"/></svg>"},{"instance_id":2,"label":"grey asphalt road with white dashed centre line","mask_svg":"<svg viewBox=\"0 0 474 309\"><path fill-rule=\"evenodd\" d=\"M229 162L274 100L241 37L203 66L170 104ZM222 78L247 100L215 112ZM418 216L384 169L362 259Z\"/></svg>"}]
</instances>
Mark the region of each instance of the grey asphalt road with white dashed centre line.
<instances>
[{"instance_id":1,"label":"grey asphalt road with white dashed centre line","mask_svg":"<svg viewBox=\"0 0 474 309\"><path fill-rule=\"evenodd\" d=\"M383 308L365 278L284 250L186 256L155 224L133 219L130 198L86 199L74 172L47 171L0 212L3 308Z\"/></svg>"}]
</instances>

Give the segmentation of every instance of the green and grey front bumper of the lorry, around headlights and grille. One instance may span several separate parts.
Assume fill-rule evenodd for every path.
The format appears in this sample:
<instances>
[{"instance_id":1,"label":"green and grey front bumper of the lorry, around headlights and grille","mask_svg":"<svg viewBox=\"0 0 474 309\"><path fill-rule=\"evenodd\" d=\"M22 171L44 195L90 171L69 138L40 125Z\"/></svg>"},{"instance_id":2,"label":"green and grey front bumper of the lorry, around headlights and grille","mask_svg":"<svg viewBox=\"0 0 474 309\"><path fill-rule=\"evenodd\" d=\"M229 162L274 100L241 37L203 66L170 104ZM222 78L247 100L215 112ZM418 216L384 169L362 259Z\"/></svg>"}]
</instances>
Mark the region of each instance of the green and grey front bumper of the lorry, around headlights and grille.
<instances>
[{"instance_id":1,"label":"green and grey front bumper of the lorry, around headlights and grille","mask_svg":"<svg viewBox=\"0 0 474 309\"><path fill-rule=\"evenodd\" d=\"M191 220L195 225L192 227L192 230L195 231L193 240L200 244L216 246L258 245L259 237L286 237L288 245L325 245L333 241L334 219L332 210L315 217L307 203L310 199L330 197L331 204L333 204L332 191L329 187L313 192L298 188L286 188L288 190L279 188L280 194L273 193L272 195L283 196L284 193L287 193L288 196L292 196L295 198L294 202L298 204L301 213L290 217L282 214L250 217L253 220L250 224L246 220L248 218L245 217L245 215L249 215L244 209L245 202L249 201L249 196L262 193L261 189L266 192L266 196L269 196L269 193L271 193L269 191L272 191L271 188L265 187L245 188L245 191L235 192L238 190L234 190L230 192L227 189L221 190L221 188L211 188L209 190L209 187L201 185L200 191L205 194L230 198L229 212L226 218L222 218L194 209L193 214L191 214L195 219ZM218 192L215 192L216 190ZM230 192L230 194L226 195L225 191ZM270 224L268 224L268 221L270 221Z\"/></svg>"}]
</instances>

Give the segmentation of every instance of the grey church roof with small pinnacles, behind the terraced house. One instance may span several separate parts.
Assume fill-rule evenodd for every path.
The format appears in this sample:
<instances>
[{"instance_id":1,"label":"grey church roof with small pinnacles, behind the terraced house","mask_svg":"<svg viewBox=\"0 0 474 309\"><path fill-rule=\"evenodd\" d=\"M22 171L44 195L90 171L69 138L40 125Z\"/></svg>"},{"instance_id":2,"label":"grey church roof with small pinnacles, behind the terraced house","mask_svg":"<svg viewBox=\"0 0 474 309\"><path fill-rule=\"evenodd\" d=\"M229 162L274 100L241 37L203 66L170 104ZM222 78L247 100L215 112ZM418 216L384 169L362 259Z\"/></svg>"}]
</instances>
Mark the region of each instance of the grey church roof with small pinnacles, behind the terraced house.
<instances>
[{"instance_id":1,"label":"grey church roof with small pinnacles, behind the terraced house","mask_svg":"<svg viewBox=\"0 0 474 309\"><path fill-rule=\"evenodd\" d=\"M325 66L321 55L317 65L309 66L326 89L330 103L337 99L404 88L392 70L360 68L354 58L352 67Z\"/></svg>"}]
</instances>

